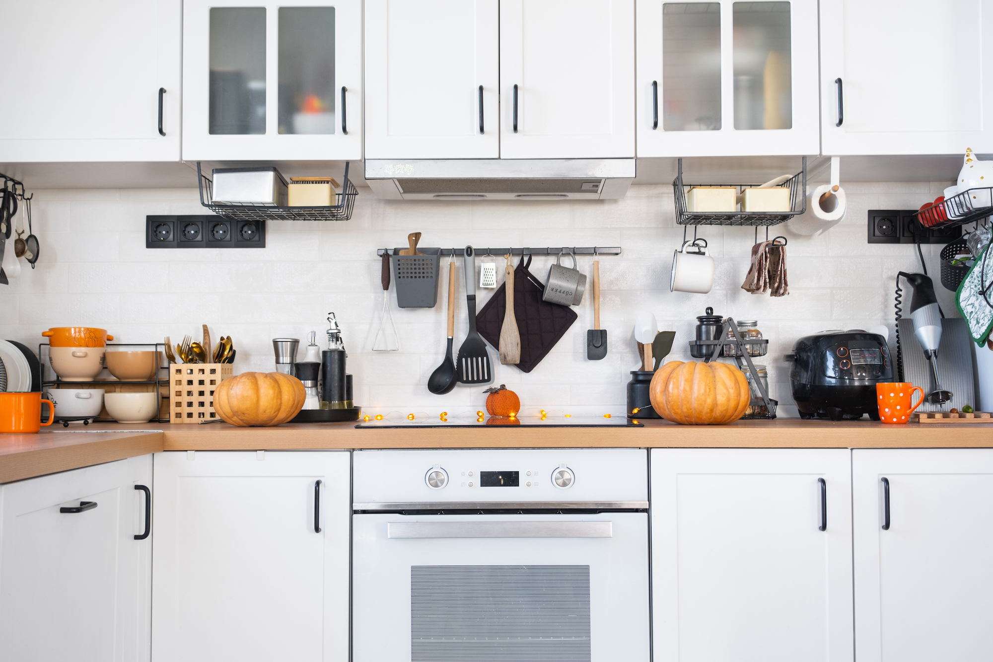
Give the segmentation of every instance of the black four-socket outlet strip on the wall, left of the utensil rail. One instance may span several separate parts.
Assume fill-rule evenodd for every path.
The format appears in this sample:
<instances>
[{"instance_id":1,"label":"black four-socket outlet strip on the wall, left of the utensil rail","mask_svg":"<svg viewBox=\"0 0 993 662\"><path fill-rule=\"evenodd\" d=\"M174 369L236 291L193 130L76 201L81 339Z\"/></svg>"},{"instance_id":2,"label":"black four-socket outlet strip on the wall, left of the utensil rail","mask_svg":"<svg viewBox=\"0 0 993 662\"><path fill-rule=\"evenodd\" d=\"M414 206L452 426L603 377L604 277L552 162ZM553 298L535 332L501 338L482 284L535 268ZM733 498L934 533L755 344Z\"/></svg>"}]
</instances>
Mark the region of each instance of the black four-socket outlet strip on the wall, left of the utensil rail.
<instances>
[{"instance_id":1,"label":"black four-socket outlet strip on the wall, left of the utensil rail","mask_svg":"<svg viewBox=\"0 0 993 662\"><path fill-rule=\"evenodd\" d=\"M265 221L213 214L146 216L145 248L265 248Z\"/></svg>"}]
</instances>

